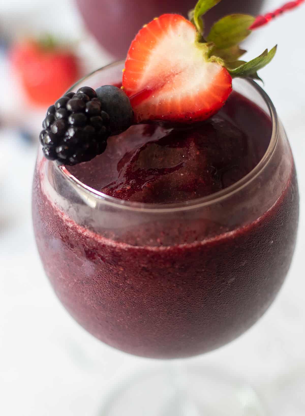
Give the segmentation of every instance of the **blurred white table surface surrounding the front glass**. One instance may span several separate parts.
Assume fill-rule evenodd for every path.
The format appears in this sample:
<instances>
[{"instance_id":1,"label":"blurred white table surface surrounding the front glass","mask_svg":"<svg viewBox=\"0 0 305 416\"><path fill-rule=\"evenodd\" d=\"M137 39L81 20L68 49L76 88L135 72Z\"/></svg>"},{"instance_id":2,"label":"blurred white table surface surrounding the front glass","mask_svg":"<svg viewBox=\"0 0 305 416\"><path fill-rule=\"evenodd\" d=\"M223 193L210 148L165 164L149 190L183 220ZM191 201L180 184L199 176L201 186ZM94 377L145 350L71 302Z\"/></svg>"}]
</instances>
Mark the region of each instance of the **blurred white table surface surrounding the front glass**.
<instances>
[{"instance_id":1,"label":"blurred white table surface surrounding the front glass","mask_svg":"<svg viewBox=\"0 0 305 416\"><path fill-rule=\"evenodd\" d=\"M27 2L4 0L0 22L14 7L25 7ZM38 7L38 1L33 3ZM63 9L69 10L70 3L61 2ZM278 0L266 3L265 11L281 4ZM76 12L71 14L71 27L78 19ZM242 376L257 389L271 416L305 415L305 47L300 35L304 25L305 6L256 32L248 45L250 57L265 47L279 45L274 62L261 71L261 76L288 132L297 165L301 210L293 264L265 316L236 341L198 359ZM87 45L87 53L96 48L90 40ZM108 59L101 53L95 66L102 66ZM0 87L5 88L5 65L0 69ZM32 232L34 163L33 146L21 144L14 132L2 129L0 414L95 416L105 394L123 374L154 362L103 345L79 327L55 297Z\"/></svg>"}]
</instances>

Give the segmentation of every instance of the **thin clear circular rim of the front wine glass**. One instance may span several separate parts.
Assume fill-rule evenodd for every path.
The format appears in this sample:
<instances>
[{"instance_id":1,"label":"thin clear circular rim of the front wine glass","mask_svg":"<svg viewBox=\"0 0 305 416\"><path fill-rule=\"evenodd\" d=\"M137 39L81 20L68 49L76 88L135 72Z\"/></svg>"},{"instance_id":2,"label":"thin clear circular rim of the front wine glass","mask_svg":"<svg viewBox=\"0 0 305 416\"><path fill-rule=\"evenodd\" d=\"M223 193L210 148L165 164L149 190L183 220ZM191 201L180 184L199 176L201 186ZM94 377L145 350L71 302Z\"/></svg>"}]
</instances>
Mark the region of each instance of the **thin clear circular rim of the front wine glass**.
<instances>
[{"instance_id":1,"label":"thin clear circular rim of the front wine glass","mask_svg":"<svg viewBox=\"0 0 305 416\"><path fill-rule=\"evenodd\" d=\"M79 79L79 81L77 81L69 89L68 92L75 89L85 79L88 79L89 77L96 74L97 72L103 69L109 69L110 67L117 66L119 64L122 64L123 62L124 61L113 62L112 64L105 65L104 67L101 67L99 69L96 69L95 71L90 72L89 74L85 75L83 78ZM60 170L64 178L72 184L74 189L78 192L84 193L86 198L97 199L99 200L99 202L102 200L104 204L114 206L116 208L120 208L124 210L142 211L142 212L151 212L151 213L170 213L170 212L176 212L176 211L203 208L203 207L212 205L214 203L221 203L226 198L229 198L233 194L241 191L243 188L245 188L245 186L248 186L253 180L255 180L255 178L258 175L260 175L260 173L263 171L268 161L270 160L275 150L277 141L278 141L279 121L278 121L278 116L275 110L275 106L273 105L273 102L271 101L268 94L255 81L253 81L252 79L245 79L245 82L247 82L254 89L256 89L256 91L258 92L258 94L260 94L260 97L263 98L265 104L268 107L268 110L270 112L271 122L272 122L272 132L271 132L270 143L268 145L267 150L265 151L265 154L260 159L258 164L247 175L243 176L243 178L241 178L239 181L237 181L236 183L233 183L233 185L231 186L228 186L228 188L222 189L221 191L215 192L208 196L203 196L201 198L196 198L190 201L184 201L184 202L179 202L179 203L153 204L153 203L126 201L124 199L119 199L113 196L109 196L105 193L97 191L94 188L91 188L90 186L86 185L82 181L79 181L74 175L72 175L72 173L69 172L69 170L64 165L61 165L57 161L54 161L53 163L55 164L56 168ZM94 206L95 205L96 204L94 204Z\"/></svg>"}]
</instances>

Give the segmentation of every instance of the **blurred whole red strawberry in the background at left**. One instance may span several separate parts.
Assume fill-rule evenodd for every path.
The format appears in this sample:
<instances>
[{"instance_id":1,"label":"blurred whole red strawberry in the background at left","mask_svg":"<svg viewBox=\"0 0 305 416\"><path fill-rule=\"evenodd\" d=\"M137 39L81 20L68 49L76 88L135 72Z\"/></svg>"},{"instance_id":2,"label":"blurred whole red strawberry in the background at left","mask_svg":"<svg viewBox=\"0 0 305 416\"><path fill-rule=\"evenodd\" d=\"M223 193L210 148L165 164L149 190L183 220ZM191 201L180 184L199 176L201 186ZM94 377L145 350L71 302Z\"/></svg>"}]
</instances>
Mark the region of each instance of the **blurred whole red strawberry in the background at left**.
<instances>
[{"instance_id":1,"label":"blurred whole red strawberry in the background at left","mask_svg":"<svg viewBox=\"0 0 305 416\"><path fill-rule=\"evenodd\" d=\"M10 60L31 104L53 104L81 76L79 60L71 47L51 36L16 42Z\"/></svg>"}]
</instances>

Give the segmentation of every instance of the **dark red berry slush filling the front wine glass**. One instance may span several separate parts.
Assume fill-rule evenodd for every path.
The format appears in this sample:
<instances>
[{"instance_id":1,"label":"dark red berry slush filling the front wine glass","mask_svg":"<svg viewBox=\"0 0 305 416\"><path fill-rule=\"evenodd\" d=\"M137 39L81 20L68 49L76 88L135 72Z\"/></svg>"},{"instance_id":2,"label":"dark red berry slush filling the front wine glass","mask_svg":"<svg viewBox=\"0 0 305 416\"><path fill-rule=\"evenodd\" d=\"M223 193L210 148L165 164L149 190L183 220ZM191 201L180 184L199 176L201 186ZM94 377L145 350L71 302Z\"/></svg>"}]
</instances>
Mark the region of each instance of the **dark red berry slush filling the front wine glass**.
<instances>
[{"instance_id":1,"label":"dark red berry slush filling the front wine glass","mask_svg":"<svg viewBox=\"0 0 305 416\"><path fill-rule=\"evenodd\" d=\"M113 140L126 142L129 150L136 144L136 150L124 157L119 154L108 165L100 163L100 170L96 158L75 167L74 173L85 178L87 172L87 182L96 186L100 183L102 185L97 188L104 189L105 183L109 184L109 166L113 169L113 182L119 177L120 169L128 171L129 161L132 161L135 169L141 165L146 177L147 166L153 163L151 157L158 145L168 152L169 161L161 158L159 149L157 169L160 163L170 163L171 168L179 166L174 170L177 177L181 171L190 178L186 182L183 180L185 186L181 191L172 175L174 188L162 193L159 202L176 201L175 184L179 188L179 200L193 198L196 191L200 195L217 191L253 168L268 146L271 128L268 118L237 94L231 96L222 114L223 121L218 114L211 122L200 126L201 133L199 126L194 126L188 134L177 132L176 140L173 132L167 132L169 136L159 141L151 141L150 136L129 137L129 131L125 133L125 140ZM215 127L217 120L220 125L224 123L223 130ZM234 124L237 124L235 128ZM209 136L210 143L204 133L207 130L213 133ZM147 127L146 134L149 131L154 129ZM144 141L144 150L138 146L139 140ZM214 140L218 140L216 147ZM110 151L111 154L114 152ZM188 155L187 161L183 155ZM101 157L105 161L107 154ZM123 160L122 166L118 166L117 159ZM212 165L215 165L214 171L203 175L203 184L194 180L200 171L210 170ZM223 179L221 173L227 168L228 174ZM122 176L129 184L131 180L136 181L130 169ZM165 170L163 173L167 177L173 172ZM141 185L143 175L139 175ZM162 174L151 171L151 176L152 181L157 177L156 190ZM109 193L114 194L118 189L124 193L123 188L113 185ZM138 187L135 182L124 195L151 202L156 194L146 187ZM47 275L57 296L77 322L107 344L132 354L187 357L215 349L238 337L273 301L293 255L298 188L293 169L278 200L254 222L209 239L190 242L189 236L185 236L186 243L180 245L175 244L173 231L168 236L171 241L167 247L151 247L115 242L80 227L52 205L42 191L40 174L36 172L33 219ZM199 223L200 226L204 234L206 224ZM145 235L141 238L145 240Z\"/></svg>"}]
</instances>

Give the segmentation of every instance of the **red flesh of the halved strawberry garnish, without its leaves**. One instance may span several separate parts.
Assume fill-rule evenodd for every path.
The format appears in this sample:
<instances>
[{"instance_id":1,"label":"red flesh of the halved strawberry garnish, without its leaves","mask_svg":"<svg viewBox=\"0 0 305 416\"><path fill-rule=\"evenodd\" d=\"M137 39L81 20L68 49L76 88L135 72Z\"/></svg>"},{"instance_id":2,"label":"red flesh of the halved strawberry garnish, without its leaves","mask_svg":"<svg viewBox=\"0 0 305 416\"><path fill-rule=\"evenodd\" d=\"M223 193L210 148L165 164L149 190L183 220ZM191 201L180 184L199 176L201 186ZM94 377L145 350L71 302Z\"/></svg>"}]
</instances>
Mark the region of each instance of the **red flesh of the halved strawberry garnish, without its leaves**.
<instances>
[{"instance_id":1,"label":"red flesh of the halved strawberry garnish, without its leaves","mask_svg":"<svg viewBox=\"0 0 305 416\"><path fill-rule=\"evenodd\" d=\"M208 44L198 42L196 27L180 15L145 25L131 43L122 81L135 121L189 123L215 114L232 91L232 77L213 58Z\"/></svg>"}]
</instances>

